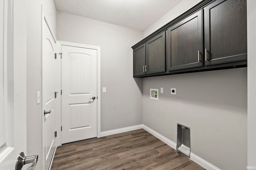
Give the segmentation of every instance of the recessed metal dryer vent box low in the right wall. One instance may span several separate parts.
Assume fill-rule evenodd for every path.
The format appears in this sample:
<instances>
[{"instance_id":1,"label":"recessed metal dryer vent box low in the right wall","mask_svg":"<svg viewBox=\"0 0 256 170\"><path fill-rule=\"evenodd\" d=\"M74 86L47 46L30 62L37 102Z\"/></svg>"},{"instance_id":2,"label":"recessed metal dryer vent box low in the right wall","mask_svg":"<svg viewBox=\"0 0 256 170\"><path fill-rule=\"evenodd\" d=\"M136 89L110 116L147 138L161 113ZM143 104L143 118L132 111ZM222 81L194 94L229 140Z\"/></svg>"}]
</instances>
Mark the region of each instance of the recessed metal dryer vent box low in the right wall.
<instances>
[{"instance_id":1,"label":"recessed metal dryer vent box low in the right wall","mask_svg":"<svg viewBox=\"0 0 256 170\"><path fill-rule=\"evenodd\" d=\"M190 128L177 123L177 152L190 157Z\"/></svg>"}]
</instances>

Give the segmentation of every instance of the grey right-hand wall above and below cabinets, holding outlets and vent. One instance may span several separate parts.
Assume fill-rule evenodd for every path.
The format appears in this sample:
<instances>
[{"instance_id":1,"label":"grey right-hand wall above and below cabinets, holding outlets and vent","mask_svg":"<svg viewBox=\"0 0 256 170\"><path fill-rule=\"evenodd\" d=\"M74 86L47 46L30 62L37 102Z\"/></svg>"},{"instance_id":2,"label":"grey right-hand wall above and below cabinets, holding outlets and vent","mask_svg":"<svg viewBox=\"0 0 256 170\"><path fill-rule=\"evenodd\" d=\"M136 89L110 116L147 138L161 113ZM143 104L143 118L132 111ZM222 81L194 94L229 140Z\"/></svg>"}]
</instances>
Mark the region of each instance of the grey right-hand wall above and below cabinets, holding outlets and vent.
<instances>
[{"instance_id":1,"label":"grey right-hand wall above and below cabinets, holding outlets and vent","mask_svg":"<svg viewBox=\"0 0 256 170\"><path fill-rule=\"evenodd\" d=\"M144 37L200 1L183 0L148 27ZM150 100L149 89L161 87L159 101ZM170 88L177 88L176 96ZM192 153L220 169L246 169L247 69L143 78L143 124L176 143L177 122L191 128Z\"/></svg>"}]
</instances>

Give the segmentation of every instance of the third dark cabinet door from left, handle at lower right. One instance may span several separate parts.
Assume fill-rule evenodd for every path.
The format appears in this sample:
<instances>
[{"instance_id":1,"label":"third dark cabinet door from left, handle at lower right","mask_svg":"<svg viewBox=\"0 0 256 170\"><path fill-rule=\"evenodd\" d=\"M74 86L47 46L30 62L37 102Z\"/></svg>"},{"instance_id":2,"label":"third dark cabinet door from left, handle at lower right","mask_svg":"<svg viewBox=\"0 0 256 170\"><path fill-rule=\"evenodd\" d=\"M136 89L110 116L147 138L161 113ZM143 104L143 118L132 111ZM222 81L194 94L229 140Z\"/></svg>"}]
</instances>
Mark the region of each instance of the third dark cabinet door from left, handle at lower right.
<instances>
[{"instance_id":1,"label":"third dark cabinet door from left, handle at lower right","mask_svg":"<svg viewBox=\"0 0 256 170\"><path fill-rule=\"evenodd\" d=\"M200 10L166 31L169 71L203 66L202 29Z\"/></svg>"}]
</instances>

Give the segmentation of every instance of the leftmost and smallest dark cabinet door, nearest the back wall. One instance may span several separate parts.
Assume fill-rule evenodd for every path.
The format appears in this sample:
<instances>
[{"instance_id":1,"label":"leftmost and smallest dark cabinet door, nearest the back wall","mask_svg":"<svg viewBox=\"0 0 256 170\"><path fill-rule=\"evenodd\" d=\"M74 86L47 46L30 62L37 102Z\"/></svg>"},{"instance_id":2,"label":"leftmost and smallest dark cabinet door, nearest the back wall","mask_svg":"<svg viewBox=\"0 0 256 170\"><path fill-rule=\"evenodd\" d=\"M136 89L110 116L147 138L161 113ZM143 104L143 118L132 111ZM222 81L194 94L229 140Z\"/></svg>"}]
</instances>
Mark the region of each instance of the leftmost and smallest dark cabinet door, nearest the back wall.
<instances>
[{"instance_id":1,"label":"leftmost and smallest dark cabinet door, nearest the back wall","mask_svg":"<svg viewBox=\"0 0 256 170\"><path fill-rule=\"evenodd\" d=\"M146 44L142 44L133 50L133 76L145 74Z\"/></svg>"}]
</instances>

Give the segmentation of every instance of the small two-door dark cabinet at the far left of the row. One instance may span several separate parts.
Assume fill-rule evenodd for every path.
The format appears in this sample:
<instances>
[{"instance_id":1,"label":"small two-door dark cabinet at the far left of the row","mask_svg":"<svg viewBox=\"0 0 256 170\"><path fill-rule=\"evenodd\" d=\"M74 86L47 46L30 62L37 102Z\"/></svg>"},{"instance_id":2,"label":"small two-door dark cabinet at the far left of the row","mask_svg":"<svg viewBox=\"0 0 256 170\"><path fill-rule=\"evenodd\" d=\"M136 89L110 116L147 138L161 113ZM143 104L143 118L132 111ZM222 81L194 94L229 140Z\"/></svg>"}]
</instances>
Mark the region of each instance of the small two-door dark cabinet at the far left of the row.
<instances>
[{"instance_id":1,"label":"small two-door dark cabinet at the far left of the row","mask_svg":"<svg viewBox=\"0 0 256 170\"><path fill-rule=\"evenodd\" d=\"M165 33L133 50L133 76L165 72Z\"/></svg>"}]
</instances>

